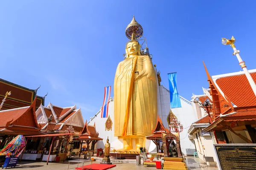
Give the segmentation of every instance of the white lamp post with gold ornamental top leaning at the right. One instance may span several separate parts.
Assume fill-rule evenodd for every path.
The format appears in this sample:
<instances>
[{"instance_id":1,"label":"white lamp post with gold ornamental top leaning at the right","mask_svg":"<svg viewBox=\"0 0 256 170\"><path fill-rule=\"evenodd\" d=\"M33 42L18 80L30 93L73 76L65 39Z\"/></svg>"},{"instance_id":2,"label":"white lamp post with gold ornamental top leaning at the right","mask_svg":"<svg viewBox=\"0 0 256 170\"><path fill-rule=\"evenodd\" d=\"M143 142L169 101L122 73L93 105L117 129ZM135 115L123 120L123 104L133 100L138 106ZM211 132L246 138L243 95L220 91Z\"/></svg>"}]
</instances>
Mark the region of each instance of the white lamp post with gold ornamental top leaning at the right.
<instances>
[{"instance_id":1,"label":"white lamp post with gold ornamental top leaning at the right","mask_svg":"<svg viewBox=\"0 0 256 170\"><path fill-rule=\"evenodd\" d=\"M230 45L233 48L233 50L234 50L233 55L236 55L236 57L237 57L237 59L239 61L239 65L243 69L244 74L247 77L247 79L248 79L248 81L250 83L251 88L253 89L254 95L256 96L256 84L255 84L253 78L251 77L249 71L247 70L245 62L241 59L241 57L239 55L240 51L236 49L235 41L236 40L235 40L235 38L233 36L232 36L231 40L228 40L226 38L222 38L222 44L223 45Z\"/></svg>"}]
</instances>

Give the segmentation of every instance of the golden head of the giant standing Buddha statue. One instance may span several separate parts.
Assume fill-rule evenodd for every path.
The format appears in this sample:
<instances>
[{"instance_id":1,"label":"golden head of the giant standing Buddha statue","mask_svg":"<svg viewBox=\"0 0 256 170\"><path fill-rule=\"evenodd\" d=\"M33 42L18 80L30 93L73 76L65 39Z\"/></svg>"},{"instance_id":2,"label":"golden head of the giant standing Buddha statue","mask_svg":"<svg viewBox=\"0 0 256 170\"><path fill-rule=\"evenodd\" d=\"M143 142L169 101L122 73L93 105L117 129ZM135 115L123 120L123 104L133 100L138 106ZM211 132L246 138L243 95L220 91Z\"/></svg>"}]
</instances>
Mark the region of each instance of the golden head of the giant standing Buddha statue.
<instances>
[{"instance_id":1,"label":"golden head of the giant standing Buddha statue","mask_svg":"<svg viewBox=\"0 0 256 170\"><path fill-rule=\"evenodd\" d=\"M125 52L126 58L129 58L131 55L140 55L140 44L134 34L132 35L131 41L126 44Z\"/></svg>"}]
</instances>

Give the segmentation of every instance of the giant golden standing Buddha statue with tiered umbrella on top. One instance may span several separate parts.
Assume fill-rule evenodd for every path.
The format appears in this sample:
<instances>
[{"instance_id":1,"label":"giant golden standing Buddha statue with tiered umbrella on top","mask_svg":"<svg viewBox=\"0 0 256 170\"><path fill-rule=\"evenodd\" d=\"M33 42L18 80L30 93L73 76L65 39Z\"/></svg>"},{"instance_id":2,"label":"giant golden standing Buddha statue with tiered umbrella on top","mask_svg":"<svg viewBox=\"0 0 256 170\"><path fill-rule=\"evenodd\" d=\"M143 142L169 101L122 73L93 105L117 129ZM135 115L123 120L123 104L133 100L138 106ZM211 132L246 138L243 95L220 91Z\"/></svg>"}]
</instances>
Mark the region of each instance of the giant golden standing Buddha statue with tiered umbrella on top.
<instances>
[{"instance_id":1,"label":"giant golden standing Buddha statue with tiered umbrella on top","mask_svg":"<svg viewBox=\"0 0 256 170\"><path fill-rule=\"evenodd\" d=\"M143 28L134 17L125 34L130 41L114 81L114 135L123 139L124 151L139 151L157 120L157 75L151 58L140 54L137 39L142 37Z\"/></svg>"}]
</instances>

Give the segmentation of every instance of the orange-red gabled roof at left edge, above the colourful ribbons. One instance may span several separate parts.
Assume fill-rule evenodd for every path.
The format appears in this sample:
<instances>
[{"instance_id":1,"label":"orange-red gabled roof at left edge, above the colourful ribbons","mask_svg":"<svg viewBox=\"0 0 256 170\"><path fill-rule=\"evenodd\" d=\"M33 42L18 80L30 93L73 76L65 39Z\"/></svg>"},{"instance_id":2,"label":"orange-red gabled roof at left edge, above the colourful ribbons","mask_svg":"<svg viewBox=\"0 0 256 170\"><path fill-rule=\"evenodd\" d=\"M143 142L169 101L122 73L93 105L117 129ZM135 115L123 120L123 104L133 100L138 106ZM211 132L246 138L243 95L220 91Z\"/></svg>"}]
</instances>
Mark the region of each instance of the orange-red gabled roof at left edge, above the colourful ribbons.
<instances>
[{"instance_id":1,"label":"orange-red gabled roof at left edge, above the colourful ribbons","mask_svg":"<svg viewBox=\"0 0 256 170\"><path fill-rule=\"evenodd\" d=\"M0 135L41 135L41 125L35 116L35 105L0 111Z\"/></svg>"}]
</instances>

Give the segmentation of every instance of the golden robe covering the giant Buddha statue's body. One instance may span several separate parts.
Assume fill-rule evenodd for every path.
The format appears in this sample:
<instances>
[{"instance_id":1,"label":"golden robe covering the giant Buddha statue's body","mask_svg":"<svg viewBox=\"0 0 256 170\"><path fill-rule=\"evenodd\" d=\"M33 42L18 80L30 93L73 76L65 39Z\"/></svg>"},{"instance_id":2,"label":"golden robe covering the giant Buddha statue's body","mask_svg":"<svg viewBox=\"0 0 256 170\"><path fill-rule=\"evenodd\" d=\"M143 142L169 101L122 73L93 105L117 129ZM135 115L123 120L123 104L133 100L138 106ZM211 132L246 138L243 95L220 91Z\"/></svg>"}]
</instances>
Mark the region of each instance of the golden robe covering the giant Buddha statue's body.
<instances>
[{"instance_id":1,"label":"golden robe covering the giant Buddha statue's body","mask_svg":"<svg viewBox=\"0 0 256 170\"><path fill-rule=\"evenodd\" d=\"M129 91L132 77L134 82L131 84L132 91ZM129 93L131 101L127 119ZM136 56L132 56L119 62L114 81L114 135L122 136L124 127L127 137L151 135L156 119L157 76L151 59L138 56L136 60Z\"/></svg>"}]
</instances>

